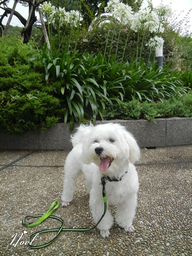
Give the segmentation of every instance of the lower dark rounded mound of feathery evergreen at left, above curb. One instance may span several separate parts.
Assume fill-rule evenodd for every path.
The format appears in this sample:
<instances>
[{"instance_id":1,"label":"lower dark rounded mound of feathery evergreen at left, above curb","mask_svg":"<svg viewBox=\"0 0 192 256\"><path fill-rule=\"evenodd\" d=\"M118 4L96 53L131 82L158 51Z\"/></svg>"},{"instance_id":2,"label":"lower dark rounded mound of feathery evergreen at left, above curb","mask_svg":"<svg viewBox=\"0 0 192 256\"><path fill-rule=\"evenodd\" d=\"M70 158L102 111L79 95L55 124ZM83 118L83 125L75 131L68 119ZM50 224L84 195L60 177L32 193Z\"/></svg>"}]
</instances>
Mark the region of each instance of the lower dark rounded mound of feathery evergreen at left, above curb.
<instances>
[{"instance_id":1,"label":"lower dark rounded mound of feathery evergreen at left, above curb","mask_svg":"<svg viewBox=\"0 0 192 256\"><path fill-rule=\"evenodd\" d=\"M7 99L9 98L10 100ZM19 91L11 89L0 94L0 123L10 134L26 131L45 131L56 124L62 115L60 102L45 92L34 91L31 94L19 96ZM6 103L5 103L6 102ZM5 105L4 105L5 104Z\"/></svg>"}]
</instances>

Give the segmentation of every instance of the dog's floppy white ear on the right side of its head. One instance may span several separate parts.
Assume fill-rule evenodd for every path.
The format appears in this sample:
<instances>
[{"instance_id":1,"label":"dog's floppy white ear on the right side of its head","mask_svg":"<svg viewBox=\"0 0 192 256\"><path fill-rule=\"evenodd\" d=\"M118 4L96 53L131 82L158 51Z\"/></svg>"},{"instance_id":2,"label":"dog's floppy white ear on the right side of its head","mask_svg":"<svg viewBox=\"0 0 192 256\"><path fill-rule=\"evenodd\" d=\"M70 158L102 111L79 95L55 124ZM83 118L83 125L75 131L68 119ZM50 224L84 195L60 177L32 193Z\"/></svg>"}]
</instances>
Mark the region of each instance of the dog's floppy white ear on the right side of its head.
<instances>
[{"instance_id":1,"label":"dog's floppy white ear on the right side of its head","mask_svg":"<svg viewBox=\"0 0 192 256\"><path fill-rule=\"evenodd\" d=\"M134 139L133 135L127 131L123 131L123 136L125 139L125 142L129 146L129 162L135 163L136 161L139 161L140 159L140 148Z\"/></svg>"}]
</instances>

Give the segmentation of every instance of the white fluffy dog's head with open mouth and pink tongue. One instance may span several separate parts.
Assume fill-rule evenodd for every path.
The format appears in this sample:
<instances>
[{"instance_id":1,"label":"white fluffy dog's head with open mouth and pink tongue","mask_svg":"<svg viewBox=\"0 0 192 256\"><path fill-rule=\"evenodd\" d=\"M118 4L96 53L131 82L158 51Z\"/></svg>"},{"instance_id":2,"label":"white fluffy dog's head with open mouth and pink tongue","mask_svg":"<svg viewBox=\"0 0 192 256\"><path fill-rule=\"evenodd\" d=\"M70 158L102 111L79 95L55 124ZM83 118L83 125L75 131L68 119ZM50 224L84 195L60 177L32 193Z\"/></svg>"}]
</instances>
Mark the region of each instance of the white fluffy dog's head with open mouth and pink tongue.
<instances>
[{"instance_id":1,"label":"white fluffy dog's head with open mouth and pink tongue","mask_svg":"<svg viewBox=\"0 0 192 256\"><path fill-rule=\"evenodd\" d=\"M116 172L124 164L140 158L136 140L117 123L99 124L92 128L82 147L82 161L95 163L101 172Z\"/></svg>"}]
</instances>

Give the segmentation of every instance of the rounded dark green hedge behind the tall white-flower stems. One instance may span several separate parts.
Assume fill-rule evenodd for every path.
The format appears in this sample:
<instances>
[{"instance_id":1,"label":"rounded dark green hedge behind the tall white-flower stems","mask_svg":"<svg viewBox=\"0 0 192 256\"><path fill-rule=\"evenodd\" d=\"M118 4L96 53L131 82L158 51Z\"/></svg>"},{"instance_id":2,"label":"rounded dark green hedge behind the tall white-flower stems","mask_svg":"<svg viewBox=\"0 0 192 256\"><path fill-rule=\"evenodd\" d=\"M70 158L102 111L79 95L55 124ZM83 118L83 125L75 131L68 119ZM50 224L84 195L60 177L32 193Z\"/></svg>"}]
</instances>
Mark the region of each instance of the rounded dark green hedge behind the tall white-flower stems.
<instances>
[{"instance_id":1,"label":"rounded dark green hedge behind the tall white-flower stems","mask_svg":"<svg viewBox=\"0 0 192 256\"><path fill-rule=\"evenodd\" d=\"M118 40L120 31L120 40ZM125 47L125 41L127 39L127 34L129 33L129 40L127 41ZM142 58L145 61L148 60L148 56L150 51L148 50L146 42L150 39L152 35L149 32L146 32L144 43L143 43L143 51ZM79 35L77 49L79 52L89 52L93 54L98 54L102 52L105 53L106 59L111 58L112 54L115 54L117 51L117 60L123 61L132 61L134 60L136 53L136 43L138 34L134 31L126 28L124 25L116 24L115 26L111 26L109 24L105 24L102 27L95 27L93 30L84 31ZM139 49L141 48L142 40L139 42ZM117 47L118 46L118 47ZM106 48L106 49L105 49ZM71 50L74 49L74 43L71 44ZM151 56L151 60L153 60L154 54Z\"/></svg>"}]
</instances>

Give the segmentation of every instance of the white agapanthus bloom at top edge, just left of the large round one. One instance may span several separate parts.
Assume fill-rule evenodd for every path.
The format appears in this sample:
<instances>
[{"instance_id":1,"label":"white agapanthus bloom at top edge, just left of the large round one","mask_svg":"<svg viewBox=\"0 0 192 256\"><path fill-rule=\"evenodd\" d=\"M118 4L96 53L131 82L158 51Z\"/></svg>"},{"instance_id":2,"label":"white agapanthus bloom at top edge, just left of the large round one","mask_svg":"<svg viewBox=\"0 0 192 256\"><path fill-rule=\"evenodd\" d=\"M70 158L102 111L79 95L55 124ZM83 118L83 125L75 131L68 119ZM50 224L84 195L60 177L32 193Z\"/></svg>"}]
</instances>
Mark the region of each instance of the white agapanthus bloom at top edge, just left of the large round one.
<instances>
[{"instance_id":1,"label":"white agapanthus bloom at top edge, just left of the large round one","mask_svg":"<svg viewBox=\"0 0 192 256\"><path fill-rule=\"evenodd\" d=\"M130 6L121 3L119 0L110 0L104 10L118 17L124 25L131 25L133 11Z\"/></svg>"}]
</instances>

